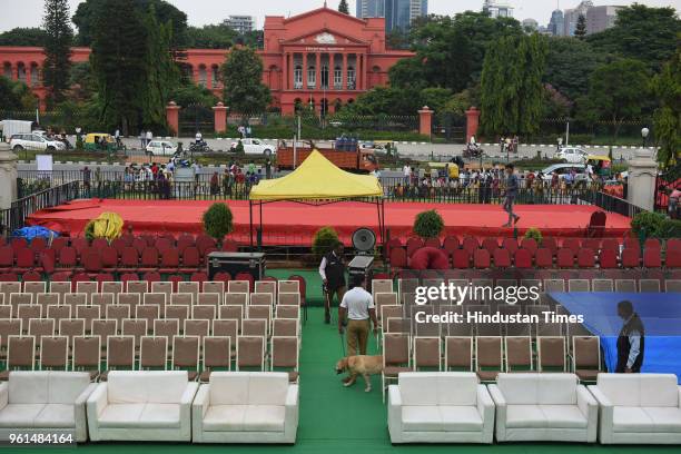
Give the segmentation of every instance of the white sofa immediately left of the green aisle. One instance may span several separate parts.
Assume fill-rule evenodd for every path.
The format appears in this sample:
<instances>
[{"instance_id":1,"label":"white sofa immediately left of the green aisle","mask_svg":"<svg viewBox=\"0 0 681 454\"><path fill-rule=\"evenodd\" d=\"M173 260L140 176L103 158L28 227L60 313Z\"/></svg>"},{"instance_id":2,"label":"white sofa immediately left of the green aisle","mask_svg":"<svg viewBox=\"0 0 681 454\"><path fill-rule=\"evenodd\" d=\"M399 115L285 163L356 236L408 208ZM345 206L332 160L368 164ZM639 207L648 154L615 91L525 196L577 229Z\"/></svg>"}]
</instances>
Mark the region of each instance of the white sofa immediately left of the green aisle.
<instances>
[{"instance_id":1,"label":"white sofa immediately left of the green aisle","mask_svg":"<svg viewBox=\"0 0 681 454\"><path fill-rule=\"evenodd\" d=\"M195 443L289 443L298 431L298 385L279 372L214 372L191 409Z\"/></svg>"}]
</instances>

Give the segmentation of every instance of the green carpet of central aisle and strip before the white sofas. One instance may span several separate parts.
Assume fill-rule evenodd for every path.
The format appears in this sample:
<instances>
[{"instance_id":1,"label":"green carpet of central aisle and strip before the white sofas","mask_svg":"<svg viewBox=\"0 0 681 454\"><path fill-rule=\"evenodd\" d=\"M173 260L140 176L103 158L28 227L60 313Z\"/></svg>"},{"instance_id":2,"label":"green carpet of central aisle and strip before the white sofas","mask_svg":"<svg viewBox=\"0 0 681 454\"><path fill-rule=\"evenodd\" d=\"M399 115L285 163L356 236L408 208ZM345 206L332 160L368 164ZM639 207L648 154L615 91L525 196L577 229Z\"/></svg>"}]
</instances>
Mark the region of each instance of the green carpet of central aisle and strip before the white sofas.
<instances>
[{"instance_id":1,"label":"green carpet of central aisle and strip before the white sofas","mask_svg":"<svg viewBox=\"0 0 681 454\"><path fill-rule=\"evenodd\" d=\"M679 446L601 446L598 444L547 444L509 443L496 445L399 445L392 446L387 434L385 405L381 399L379 377L373 379L373 391L364 393L357 383L345 388L334 364L342 356L342 346L334 325L322 323L323 310L310 308L309 320L303 330L300 352L300 421L295 446L277 445L195 445L175 443L89 443L77 448L58 452L80 454L138 453L184 454L184 453L290 453L290 454L349 454L349 453L594 453L594 454L643 454L679 453ZM376 352L376 344L369 343L369 354ZM40 452L43 447L3 447L2 453ZM45 451L42 451L45 452Z\"/></svg>"}]
</instances>

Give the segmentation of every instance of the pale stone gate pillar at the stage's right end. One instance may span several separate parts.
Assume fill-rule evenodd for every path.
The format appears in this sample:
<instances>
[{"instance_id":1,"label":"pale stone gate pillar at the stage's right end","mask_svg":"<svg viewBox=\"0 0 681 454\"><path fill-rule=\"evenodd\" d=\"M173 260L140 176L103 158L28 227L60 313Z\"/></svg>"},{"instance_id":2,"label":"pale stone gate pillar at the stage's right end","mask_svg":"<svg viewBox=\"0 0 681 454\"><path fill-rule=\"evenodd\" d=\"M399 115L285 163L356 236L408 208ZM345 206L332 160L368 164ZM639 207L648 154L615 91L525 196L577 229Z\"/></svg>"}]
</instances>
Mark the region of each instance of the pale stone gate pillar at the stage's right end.
<instances>
[{"instance_id":1,"label":"pale stone gate pillar at the stage's right end","mask_svg":"<svg viewBox=\"0 0 681 454\"><path fill-rule=\"evenodd\" d=\"M653 211L655 209L655 179L658 162L651 148L640 148L629 161L626 199L630 204Z\"/></svg>"}]
</instances>

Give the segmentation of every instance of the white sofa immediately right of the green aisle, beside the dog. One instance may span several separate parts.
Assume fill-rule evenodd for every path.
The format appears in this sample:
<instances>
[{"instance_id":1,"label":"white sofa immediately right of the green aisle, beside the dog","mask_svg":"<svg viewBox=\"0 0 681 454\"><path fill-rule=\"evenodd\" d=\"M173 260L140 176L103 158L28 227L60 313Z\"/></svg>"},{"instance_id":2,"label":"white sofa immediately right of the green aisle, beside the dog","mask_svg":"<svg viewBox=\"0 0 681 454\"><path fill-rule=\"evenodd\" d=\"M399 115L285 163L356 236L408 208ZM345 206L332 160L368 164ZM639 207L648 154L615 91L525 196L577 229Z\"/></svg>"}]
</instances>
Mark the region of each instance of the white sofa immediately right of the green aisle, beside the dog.
<instances>
[{"instance_id":1,"label":"white sofa immediately right of the green aisle, beside the dog","mask_svg":"<svg viewBox=\"0 0 681 454\"><path fill-rule=\"evenodd\" d=\"M492 443L494 403L474 373L405 372L388 386L397 443Z\"/></svg>"}]
</instances>

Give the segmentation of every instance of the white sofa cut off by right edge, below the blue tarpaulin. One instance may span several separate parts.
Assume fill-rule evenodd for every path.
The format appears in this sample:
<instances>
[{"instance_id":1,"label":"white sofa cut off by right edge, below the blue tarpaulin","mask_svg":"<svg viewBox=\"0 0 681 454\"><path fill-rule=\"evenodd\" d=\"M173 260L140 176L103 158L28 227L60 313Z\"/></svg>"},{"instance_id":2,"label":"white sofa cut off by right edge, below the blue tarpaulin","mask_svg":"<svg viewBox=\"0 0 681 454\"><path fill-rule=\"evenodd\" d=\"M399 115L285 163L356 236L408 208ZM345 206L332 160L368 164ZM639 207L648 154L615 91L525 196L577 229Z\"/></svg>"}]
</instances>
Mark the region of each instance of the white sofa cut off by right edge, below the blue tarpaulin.
<instances>
[{"instance_id":1,"label":"white sofa cut off by right edge, below the blue tarpaulin","mask_svg":"<svg viewBox=\"0 0 681 454\"><path fill-rule=\"evenodd\" d=\"M674 374L599 374L589 391L601 407L601 443L681 443L681 387Z\"/></svg>"}]
</instances>

